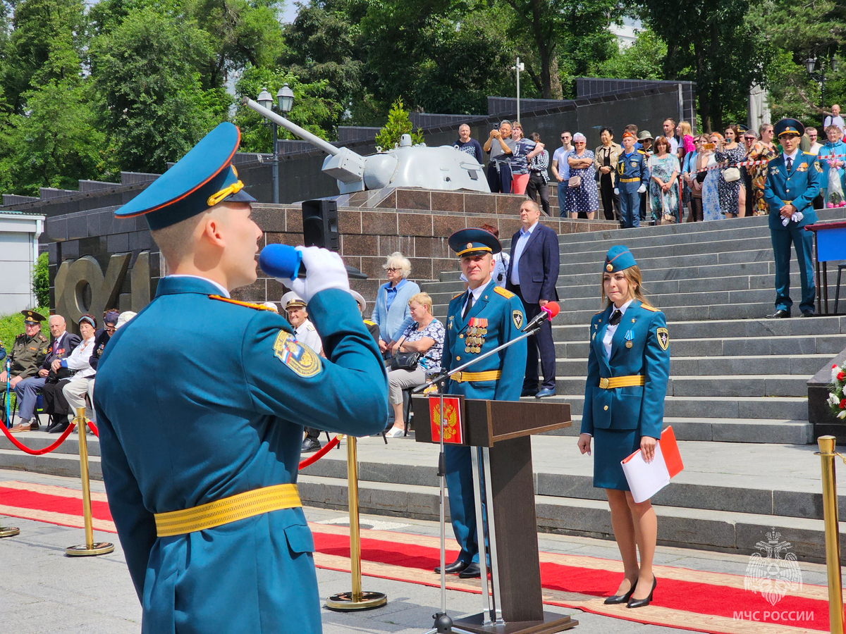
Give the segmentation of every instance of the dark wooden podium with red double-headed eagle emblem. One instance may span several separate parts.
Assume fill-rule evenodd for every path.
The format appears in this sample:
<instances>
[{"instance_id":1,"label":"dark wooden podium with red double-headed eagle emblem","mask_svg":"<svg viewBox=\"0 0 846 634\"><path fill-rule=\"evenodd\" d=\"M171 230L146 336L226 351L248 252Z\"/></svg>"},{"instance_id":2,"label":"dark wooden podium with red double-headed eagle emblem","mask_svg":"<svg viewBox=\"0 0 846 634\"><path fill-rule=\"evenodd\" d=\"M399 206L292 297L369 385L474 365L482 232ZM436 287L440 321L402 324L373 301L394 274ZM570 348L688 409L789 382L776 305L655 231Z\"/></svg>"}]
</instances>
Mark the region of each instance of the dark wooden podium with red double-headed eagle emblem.
<instances>
[{"instance_id":1,"label":"dark wooden podium with red double-headed eagle emblem","mask_svg":"<svg viewBox=\"0 0 846 634\"><path fill-rule=\"evenodd\" d=\"M489 544L493 586L489 593L486 558L480 552L483 611L453 625L480 634L552 634L577 626L579 621L569 616L543 610L530 441L532 434L569 427L570 406L444 397L458 399L460 445L476 448L471 451L476 527L480 549ZM437 435L433 438L428 399L415 402L420 403L415 407L415 440L439 442ZM447 418L449 422L449 411ZM436 429L438 424L436 419ZM482 522L483 512L487 522Z\"/></svg>"}]
</instances>

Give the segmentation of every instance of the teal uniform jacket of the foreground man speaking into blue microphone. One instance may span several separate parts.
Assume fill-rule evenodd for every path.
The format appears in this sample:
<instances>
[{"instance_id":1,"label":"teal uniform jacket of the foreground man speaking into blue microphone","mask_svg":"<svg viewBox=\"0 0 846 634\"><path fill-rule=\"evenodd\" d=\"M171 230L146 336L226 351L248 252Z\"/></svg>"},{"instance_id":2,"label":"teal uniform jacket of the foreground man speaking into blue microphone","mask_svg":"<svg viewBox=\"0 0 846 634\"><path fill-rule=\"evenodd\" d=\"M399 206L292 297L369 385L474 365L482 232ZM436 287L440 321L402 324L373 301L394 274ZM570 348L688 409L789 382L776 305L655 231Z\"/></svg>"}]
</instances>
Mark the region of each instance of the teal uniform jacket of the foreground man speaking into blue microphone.
<instances>
[{"instance_id":1,"label":"teal uniform jacket of the foreground man speaking into blue microphone","mask_svg":"<svg viewBox=\"0 0 846 634\"><path fill-rule=\"evenodd\" d=\"M303 425L382 430L387 380L348 292L309 303L327 358L269 310L165 277L112 337L95 407L109 506L143 608L141 631L321 631L301 508L157 538L153 514L297 481Z\"/></svg>"}]
</instances>

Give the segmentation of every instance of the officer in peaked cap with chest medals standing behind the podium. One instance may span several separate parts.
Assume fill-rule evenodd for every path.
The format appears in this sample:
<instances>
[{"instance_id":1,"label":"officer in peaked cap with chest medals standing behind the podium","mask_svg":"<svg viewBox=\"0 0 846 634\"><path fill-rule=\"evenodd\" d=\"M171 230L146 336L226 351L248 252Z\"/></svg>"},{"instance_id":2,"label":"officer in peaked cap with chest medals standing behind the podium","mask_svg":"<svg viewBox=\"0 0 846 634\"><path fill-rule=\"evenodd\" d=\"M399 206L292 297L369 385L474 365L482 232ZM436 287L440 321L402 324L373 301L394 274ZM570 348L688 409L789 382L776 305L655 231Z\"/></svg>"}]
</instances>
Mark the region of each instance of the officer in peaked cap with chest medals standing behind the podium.
<instances>
[{"instance_id":1,"label":"officer in peaked cap with chest medals standing behind the podium","mask_svg":"<svg viewBox=\"0 0 846 634\"><path fill-rule=\"evenodd\" d=\"M523 303L510 291L497 287L491 274L493 256L503 250L499 240L484 229L462 229L449 238L449 247L461 260L461 272L468 281L465 292L456 295L447 311L447 336L443 343L443 369L455 369L488 350L509 342L525 325ZM492 401L519 401L526 365L526 342L509 346L453 375L447 394ZM449 574L479 577L479 544L473 495L470 447L446 445L449 515L459 558L446 566ZM436 572L440 572L436 569Z\"/></svg>"}]
</instances>

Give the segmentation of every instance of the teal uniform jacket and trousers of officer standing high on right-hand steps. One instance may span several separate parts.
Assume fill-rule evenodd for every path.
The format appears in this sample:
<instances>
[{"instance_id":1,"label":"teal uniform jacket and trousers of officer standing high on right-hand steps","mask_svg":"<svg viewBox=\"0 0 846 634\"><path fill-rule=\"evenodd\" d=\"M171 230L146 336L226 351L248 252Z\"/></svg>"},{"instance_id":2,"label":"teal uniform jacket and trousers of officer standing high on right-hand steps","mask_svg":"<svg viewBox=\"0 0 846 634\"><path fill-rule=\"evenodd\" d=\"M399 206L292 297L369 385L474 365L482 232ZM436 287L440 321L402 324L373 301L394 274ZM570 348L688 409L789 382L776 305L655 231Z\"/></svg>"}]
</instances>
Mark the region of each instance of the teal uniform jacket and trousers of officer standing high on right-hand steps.
<instances>
[{"instance_id":1,"label":"teal uniform jacket and trousers of officer standing high on right-hand steps","mask_svg":"<svg viewBox=\"0 0 846 634\"><path fill-rule=\"evenodd\" d=\"M772 240L772 254L776 260L776 301L777 310L790 313L793 300L790 298L790 244L796 250L799 260L799 279L802 284L802 299L799 309L814 312L816 284L814 282L814 263L812 260L814 239L803 227L816 222L813 200L820 193L823 168L816 156L799 151L788 174L784 156L777 156L766 164L764 173L764 199L770 206L769 224ZM779 210L792 203L803 216L799 222L789 221L782 224Z\"/></svg>"}]
</instances>

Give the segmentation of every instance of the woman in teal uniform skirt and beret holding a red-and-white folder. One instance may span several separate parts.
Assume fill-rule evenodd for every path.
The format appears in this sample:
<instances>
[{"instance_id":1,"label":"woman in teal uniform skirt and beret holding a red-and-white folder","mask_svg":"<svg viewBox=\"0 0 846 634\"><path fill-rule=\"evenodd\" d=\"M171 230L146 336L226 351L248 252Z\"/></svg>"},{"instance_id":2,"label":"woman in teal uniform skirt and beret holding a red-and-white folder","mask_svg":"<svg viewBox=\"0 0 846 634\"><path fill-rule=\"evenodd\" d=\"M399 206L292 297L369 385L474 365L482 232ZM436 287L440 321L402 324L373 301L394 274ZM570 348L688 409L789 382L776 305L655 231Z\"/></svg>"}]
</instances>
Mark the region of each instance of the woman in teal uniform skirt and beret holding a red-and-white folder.
<instances>
[{"instance_id":1,"label":"woman in teal uniform skirt and beret holding a red-and-white folder","mask_svg":"<svg viewBox=\"0 0 846 634\"><path fill-rule=\"evenodd\" d=\"M620 462L640 449L647 462L661 435L670 369L664 314L643 295L640 269L624 246L608 251L602 270L607 305L591 320L585 409L579 449L596 439L593 485L605 489L625 578L606 604L640 608L652 600L658 524L649 500L636 504ZM640 566L638 566L640 551Z\"/></svg>"}]
</instances>

